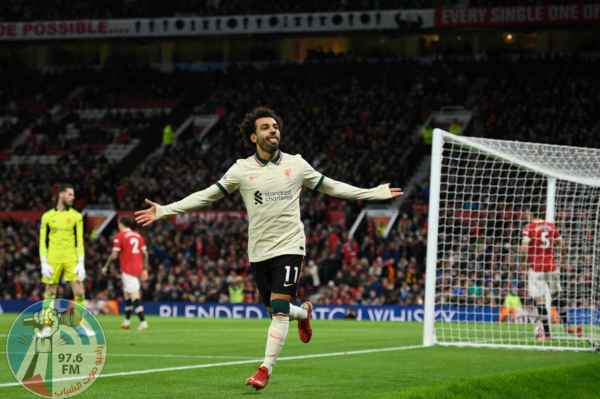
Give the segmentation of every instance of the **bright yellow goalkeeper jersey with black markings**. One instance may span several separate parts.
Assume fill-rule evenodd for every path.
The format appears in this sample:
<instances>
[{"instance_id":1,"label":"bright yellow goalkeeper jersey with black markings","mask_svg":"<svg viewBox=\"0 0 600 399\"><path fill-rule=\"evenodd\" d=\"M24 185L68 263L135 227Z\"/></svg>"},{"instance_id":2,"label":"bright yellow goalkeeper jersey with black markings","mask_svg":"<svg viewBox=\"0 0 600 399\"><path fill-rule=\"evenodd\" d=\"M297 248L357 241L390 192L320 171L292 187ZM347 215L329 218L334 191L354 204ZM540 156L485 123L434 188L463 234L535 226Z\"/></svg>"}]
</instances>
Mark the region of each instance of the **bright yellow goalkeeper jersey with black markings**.
<instances>
[{"instance_id":1,"label":"bright yellow goalkeeper jersey with black markings","mask_svg":"<svg viewBox=\"0 0 600 399\"><path fill-rule=\"evenodd\" d=\"M76 262L83 249L83 217L73 208L50 209L41 217L40 256L48 263Z\"/></svg>"}]
</instances>

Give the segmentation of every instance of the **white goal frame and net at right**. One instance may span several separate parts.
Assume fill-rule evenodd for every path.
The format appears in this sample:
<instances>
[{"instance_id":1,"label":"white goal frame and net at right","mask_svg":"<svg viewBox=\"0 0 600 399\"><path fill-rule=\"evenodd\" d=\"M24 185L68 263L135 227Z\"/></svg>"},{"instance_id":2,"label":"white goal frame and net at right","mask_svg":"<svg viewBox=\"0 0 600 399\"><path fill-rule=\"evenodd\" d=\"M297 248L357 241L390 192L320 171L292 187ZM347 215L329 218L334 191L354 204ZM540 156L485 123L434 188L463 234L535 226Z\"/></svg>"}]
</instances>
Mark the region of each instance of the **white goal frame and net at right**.
<instances>
[{"instance_id":1,"label":"white goal frame and net at right","mask_svg":"<svg viewBox=\"0 0 600 399\"><path fill-rule=\"evenodd\" d=\"M598 149L436 129L424 345L597 348L599 203ZM530 215L554 223L566 246L542 233L538 246L554 247L556 272L540 275L538 291L528 281L532 257L519 253Z\"/></svg>"}]
</instances>

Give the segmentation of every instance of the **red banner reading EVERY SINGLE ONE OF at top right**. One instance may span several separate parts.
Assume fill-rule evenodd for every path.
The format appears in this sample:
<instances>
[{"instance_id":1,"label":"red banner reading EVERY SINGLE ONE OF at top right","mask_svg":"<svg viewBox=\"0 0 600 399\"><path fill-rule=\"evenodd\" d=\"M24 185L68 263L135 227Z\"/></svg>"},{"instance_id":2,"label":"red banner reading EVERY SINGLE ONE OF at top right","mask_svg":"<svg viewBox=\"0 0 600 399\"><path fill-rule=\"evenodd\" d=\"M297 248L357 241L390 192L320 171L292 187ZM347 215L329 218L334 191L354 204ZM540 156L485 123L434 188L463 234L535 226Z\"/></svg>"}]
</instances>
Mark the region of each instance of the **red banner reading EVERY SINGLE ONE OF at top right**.
<instances>
[{"instance_id":1,"label":"red banner reading EVERY SINGLE ONE OF at top right","mask_svg":"<svg viewBox=\"0 0 600 399\"><path fill-rule=\"evenodd\" d=\"M592 23L600 21L600 4L437 8L435 16L436 28Z\"/></svg>"}]
</instances>

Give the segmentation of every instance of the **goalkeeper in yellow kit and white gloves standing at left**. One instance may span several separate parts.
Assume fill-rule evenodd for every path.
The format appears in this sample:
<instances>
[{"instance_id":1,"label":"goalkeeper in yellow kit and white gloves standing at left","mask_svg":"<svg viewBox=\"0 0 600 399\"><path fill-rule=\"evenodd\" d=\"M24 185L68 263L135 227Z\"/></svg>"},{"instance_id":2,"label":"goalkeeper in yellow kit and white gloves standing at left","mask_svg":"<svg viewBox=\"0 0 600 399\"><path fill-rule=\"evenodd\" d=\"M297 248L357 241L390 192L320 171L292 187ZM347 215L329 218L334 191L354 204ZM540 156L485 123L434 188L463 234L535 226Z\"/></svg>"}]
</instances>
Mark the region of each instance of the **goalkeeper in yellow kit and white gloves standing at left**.
<instances>
[{"instance_id":1,"label":"goalkeeper in yellow kit and white gloves standing at left","mask_svg":"<svg viewBox=\"0 0 600 399\"><path fill-rule=\"evenodd\" d=\"M85 307L83 216L71 208L75 199L72 185L59 185L56 195L56 206L42 215L40 225L41 282L46 284L44 301L56 297L62 275L71 285L74 300ZM87 329L86 332L93 334Z\"/></svg>"}]
</instances>

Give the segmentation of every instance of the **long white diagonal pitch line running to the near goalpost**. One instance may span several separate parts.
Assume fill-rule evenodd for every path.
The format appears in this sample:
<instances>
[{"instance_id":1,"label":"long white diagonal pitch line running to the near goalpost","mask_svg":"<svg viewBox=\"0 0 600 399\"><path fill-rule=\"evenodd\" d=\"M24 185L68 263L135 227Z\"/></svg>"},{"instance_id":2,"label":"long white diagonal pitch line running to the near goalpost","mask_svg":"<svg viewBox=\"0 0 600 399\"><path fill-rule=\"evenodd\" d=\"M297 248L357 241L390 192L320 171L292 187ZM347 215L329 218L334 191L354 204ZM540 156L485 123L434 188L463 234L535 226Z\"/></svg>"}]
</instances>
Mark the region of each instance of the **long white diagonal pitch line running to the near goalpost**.
<instances>
[{"instance_id":1,"label":"long white diagonal pitch line running to the near goalpost","mask_svg":"<svg viewBox=\"0 0 600 399\"><path fill-rule=\"evenodd\" d=\"M391 351L403 351L404 349L417 349L424 348L423 345L411 345L411 346L396 346L394 348L380 348L380 349L364 349L362 351L347 351L347 352L332 352L328 354L313 354L313 355L301 355L301 356L288 356L278 358L277 360L295 360L295 359L310 359L310 358L320 358L320 357L329 357L329 356L343 356L343 355L358 355L358 354L370 354L374 352L391 352ZM176 371L176 370L190 370L191 368L205 368L205 367L218 367L218 366L233 366L236 364L248 364L248 363L260 363L264 359L254 359L254 360L239 360L239 361L228 361L224 363L210 363L210 364L195 364L194 366L179 366L179 367L163 367L163 368L151 368L150 370L136 370L136 371L124 371L122 373L109 373L109 374L100 374L100 377L116 377L116 376L130 376L133 374L148 374L148 373L160 373L162 371ZM78 377L65 377L65 378L55 378L52 381L68 381L68 380L76 380L80 379L84 376ZM16 386L20 385L18 382L8 382L0 384L0 388L4 386Z\"/></svg>"}]
</instances>

